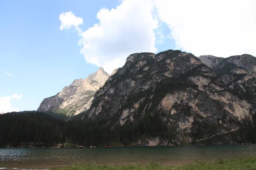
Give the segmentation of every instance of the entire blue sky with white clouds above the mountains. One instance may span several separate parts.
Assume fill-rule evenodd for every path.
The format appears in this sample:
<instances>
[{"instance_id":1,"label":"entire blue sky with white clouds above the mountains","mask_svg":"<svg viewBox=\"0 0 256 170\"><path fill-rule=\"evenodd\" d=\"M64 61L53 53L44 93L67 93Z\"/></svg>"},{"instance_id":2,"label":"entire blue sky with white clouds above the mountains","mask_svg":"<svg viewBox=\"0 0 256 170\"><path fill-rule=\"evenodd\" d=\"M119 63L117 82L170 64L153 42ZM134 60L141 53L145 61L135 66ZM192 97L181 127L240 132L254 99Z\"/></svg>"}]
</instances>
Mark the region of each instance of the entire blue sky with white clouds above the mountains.
<instances>
[{"instance_id":1,"label":"entire blue sky with white clouds above the mountains","mask_svg":"<svg viewBox=\"0 0 256 170\"><path fill-rule=\"evenodd\" d=\"M137 52L256 56L256 0L1 0L0 113Z\"/></svg>"}]
</instances>

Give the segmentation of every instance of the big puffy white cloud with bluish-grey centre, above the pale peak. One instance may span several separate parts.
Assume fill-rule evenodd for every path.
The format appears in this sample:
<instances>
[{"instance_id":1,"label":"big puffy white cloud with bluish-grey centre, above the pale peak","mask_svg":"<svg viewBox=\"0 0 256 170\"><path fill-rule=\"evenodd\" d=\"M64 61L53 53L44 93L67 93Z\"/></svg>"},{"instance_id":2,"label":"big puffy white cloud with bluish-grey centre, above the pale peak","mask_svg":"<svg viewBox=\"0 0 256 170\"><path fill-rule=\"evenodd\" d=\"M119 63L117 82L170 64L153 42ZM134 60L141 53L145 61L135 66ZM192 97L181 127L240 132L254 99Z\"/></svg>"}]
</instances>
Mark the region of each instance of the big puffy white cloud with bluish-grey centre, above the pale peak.
<instances>
[{"instance_id":1,"label":"big puffy white cloud with bluish-grey centre, above the pale peak","mask_svg":"<svg viewBox=\"0 0 256 170\"><path fill-rule=\"evenodd\" d=\"M99 23L81 33L79 45L87 62L103 67L109 74L137 52L156 52L151 0L123 0L111 10L97 13Z\"/></svg>"}]
</instances>

